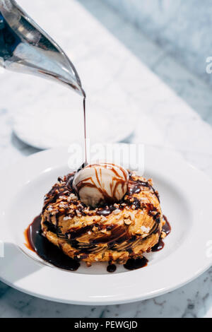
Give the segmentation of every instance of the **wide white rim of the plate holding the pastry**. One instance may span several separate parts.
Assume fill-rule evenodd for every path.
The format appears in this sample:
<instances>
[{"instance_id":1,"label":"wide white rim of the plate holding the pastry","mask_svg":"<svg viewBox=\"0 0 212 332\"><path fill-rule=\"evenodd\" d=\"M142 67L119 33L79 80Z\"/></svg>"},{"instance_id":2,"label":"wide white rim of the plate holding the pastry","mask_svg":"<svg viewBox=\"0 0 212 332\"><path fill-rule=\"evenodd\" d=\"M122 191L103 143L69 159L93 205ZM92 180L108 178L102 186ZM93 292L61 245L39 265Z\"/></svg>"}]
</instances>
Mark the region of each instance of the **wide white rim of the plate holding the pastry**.
<instances>
[{"instance_id":1,"label":"wide white rim of the plate holding the pastry","mask_svg":"<svg viewBox=\"0 0 212 332\"><path fill-rule=\"evenodd\" d=\"M0 257L0 280L17 290L46 300L101 305L146 300L175 290L204 273L211 266L212 250L208 246L212 242L212 225L207 206L212 194L212 181L172 150L146 146L146 155L148 174L158 172L167 183L180 189L190 208L187 241L179 244L170 256L150 264L148 268L104 275L61 271L42 266L25 256L8 234L6 209L10 197L7 189L12 187L18 194L23 185L33 181L36 176L42 174L45 177L52 167L64 165L67 148L54 148L24 158L1 172L1 184L6 191L0 193L0 240L5 243L6 255ZM18 174L21 176L18 177ZM205 228L207 232L201 232ZM18 266L22 271L18 270Z\"/></svg>"}]
</instances>

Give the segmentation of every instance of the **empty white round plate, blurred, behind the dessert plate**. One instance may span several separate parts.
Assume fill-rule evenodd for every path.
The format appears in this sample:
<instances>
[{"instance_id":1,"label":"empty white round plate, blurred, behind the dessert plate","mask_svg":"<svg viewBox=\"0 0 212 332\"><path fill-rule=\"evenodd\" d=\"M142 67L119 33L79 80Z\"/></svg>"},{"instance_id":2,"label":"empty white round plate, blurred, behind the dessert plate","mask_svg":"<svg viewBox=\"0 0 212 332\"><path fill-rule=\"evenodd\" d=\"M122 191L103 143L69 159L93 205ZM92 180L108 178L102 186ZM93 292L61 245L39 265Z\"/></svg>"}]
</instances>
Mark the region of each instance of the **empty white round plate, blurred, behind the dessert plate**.
<instances>
[{"instance_id":1,"label":"empty white round plate, blurred, behind the dessert plate","mask_svg":"<svg viewBox=\"0 0 212 332\"><path fill-rule=\"evenodd\" d=\"M112 86L114 90L108 95L103 90L102 93L88 93L86 98L86 130L90 143L124 141L137 124L135 102L119 87ZM27 85L25 82L17 99L16 107L11 107L13 131L21 141L40 149L68 146L69 143L83 145L81 96L61 85L33 78L32 83Z\"/></svg>"}]
</instances>

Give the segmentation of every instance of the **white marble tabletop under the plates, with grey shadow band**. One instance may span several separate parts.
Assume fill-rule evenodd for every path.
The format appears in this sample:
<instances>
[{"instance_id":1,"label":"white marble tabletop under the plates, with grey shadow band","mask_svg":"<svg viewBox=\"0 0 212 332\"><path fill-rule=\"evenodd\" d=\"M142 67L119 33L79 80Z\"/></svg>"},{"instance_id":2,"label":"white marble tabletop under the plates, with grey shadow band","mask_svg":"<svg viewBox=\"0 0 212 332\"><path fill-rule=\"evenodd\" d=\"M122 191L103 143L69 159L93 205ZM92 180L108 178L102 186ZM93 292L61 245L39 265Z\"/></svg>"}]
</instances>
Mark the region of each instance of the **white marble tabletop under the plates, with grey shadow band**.
<instances>
[{"instance_id":1,"label":"white marble tabletop under the plates, with grey shadow band","mask_svg":"<svg viewBox=\"0 0 212 332\"><path fill-rule=\"evenodd\" d=\"M63 7L57 0L51 1L51 7L42 0L19 3L61 41L86 90L95 93L100 106L104 100L99 94L107 93L108 112L111 112L111 105L117 102L117 91L133 103L137 126L131 141L175 149L212 177L212 97L205 83L101 1L92 0L88 5L86 0L63 0ZM105 67L107 76L102 78ZM30 107L30 100L35 102L35 95L40 94L42 87L45 90L40 99L44 106L51 105L52 95L57 103L67 96L59 88L52 93L55 88L51 83L41 83L30 76L4 72L1 81L4 84L0 91L0 152L4 168L37 151L12 134L13 112L25 107L26 100ZM155 299L80 307L40 300L0 282L0 317L212 317L211 285L209 269L192 283Z\"/></svg>"}]
</instances>

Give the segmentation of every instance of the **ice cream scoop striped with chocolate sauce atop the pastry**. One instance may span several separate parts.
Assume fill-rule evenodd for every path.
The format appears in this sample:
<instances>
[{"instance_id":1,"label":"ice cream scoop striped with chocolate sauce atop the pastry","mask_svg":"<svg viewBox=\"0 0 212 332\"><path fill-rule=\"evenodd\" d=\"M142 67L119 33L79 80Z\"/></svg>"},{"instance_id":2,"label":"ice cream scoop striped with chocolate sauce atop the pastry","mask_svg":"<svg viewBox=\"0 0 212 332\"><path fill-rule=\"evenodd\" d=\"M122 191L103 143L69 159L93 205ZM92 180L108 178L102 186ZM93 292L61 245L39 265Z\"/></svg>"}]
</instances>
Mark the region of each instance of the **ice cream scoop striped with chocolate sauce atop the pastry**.
<instances>
[{"instance_id":1,"label":"ice cream scoop striped with chocolate sauce atop the pastry","mask_svg":"<svg viewBox=\"0 0 212 332\"><path fill-rule=\"evenodd\" d=\"M100 163L87 165L75 174L73 188L87 206L120 201L126 194L129 173L124 168Z\"/></svg>"}]
</instances>

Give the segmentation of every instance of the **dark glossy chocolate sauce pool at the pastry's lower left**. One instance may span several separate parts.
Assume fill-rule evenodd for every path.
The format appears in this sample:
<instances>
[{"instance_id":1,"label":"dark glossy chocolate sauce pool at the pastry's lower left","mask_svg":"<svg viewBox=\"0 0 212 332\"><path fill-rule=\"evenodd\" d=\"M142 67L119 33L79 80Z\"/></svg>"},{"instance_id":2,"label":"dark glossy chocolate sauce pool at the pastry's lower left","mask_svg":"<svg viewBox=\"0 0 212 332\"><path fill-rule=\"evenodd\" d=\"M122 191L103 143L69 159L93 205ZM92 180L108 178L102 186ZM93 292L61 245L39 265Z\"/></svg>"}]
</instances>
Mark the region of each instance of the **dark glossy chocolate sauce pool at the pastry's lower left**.
<instances>
[{"instance_id":1,"label":"dark glossy chocolate sauce pool at the pastry's lower left","mask_svg":"<svg viewBox=\"0 0 212 332\"><path fill-rule=\"evenodd\" d=\"M45 237L42 236L41 230L41 216L38 215L33 223L25 230L26 247L35 251L40 258L48 263L51 263L57 268L64 270L76 271L80 263L66 256L58 247L54 246Z\"/></svg>"}]
</instances>

